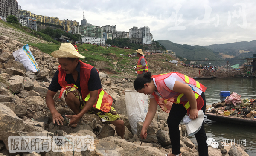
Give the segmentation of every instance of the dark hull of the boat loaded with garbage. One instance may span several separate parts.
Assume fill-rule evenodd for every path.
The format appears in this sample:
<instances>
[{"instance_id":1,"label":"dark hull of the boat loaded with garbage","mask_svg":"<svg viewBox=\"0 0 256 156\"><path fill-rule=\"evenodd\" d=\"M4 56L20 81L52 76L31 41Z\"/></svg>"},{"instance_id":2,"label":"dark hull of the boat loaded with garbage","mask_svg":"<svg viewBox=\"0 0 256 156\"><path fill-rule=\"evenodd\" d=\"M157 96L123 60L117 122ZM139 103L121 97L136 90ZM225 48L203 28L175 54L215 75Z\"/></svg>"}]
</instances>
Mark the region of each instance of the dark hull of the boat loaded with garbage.
<instances>
[{"instance_id":1,"label":"dark hull of the boat loaded with garbage","mask_svg":"<svg viewBox=\"0 0 256 156\"><path fill-rule=\"evenodd\" d=\"M205 115L209 120L216 121L216 122L256 127L256 119L254 118L241 118L241 117L235 117L235 116L216 115L216 114L207 113L207 112L205 112Z\"/></svg>"}]
</instances>

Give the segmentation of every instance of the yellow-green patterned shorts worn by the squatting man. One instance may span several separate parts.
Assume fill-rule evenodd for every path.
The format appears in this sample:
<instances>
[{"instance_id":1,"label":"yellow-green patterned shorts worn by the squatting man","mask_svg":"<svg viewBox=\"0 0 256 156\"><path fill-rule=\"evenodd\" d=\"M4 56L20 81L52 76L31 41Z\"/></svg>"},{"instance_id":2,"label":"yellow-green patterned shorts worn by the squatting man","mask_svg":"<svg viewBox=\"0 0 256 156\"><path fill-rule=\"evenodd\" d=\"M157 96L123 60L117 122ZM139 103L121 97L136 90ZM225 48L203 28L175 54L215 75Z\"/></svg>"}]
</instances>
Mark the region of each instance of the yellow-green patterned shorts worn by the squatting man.
<instances>
[{"instance_id":1,"label":"yellow-green patterned shorts worn by the squatting man","mask_svg":"<svg viewBox=\"0 0 256 156\"><path fill-rule=\"evenodd\" d=\"M79 101L80 101L79 111L81 111L84 108L84 105L86 104L86 102L83 100L80 92L74 87L67 88L67 90L65 92L65 98L69 92L73 92L73 94L76 96L76 98L79 99ZM115 108L112 106L111 106L109 112L103 112L101 110L98 110L95 107L92 107L90 110L88 110L87 113L88 114L96 114L97 116L99 116L99 118L102 122L122 120L122 118L116 112Z\"/></svg>"}]
</instances>

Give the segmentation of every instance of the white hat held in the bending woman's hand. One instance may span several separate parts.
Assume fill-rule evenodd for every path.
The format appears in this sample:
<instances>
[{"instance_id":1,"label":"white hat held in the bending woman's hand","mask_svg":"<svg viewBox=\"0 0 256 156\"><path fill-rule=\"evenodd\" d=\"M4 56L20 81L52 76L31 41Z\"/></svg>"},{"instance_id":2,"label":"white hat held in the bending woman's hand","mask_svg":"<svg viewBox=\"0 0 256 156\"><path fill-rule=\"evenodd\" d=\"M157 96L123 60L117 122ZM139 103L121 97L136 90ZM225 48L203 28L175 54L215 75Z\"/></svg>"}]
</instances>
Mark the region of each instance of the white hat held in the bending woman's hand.
<instances>
[{"instance_id":1,"label":"white hat held in the bending woman's hand","mask_svg":"<svg viewBox=\"0 0 256 156\"><path fill-rule=\"evenodd\" d=\"M186 118L189 118L189 116ZM184 119L183 119L183 122L184 122ZM198 118L196 118L195 120L191 120L191 121L189 121L189 123L186 123L186 121L185 121L186 131L188 133L188 136L192 136L195 133L197 133L200 130L200 128L202 127L203 122L204 122L203 110L198 110Z\"/></svg>"}]
</instances>

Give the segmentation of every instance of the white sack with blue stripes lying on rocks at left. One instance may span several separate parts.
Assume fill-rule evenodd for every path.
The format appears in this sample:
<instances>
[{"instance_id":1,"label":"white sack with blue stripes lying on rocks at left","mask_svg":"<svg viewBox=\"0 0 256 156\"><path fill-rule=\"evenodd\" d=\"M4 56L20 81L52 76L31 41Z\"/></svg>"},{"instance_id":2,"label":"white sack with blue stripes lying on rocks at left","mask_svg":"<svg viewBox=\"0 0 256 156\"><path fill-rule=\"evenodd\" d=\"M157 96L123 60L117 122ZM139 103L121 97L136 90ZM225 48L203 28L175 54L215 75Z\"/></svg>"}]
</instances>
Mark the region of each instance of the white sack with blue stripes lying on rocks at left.
<instances>
[{"instance_id":1,"label":"white sack with blue stripes lying on rocks at left","mask_svg":"<svg viewBox=\"0 0 256 156\"><path fill-rule=\"evenodd\" d=\"M23 64L26 71L30 72L39 72L39 67L35 61L34 56L32 55L29 45L21 47L19 50L12 53L15 61L18 61Z\"/></svg>"}]
</instances>

